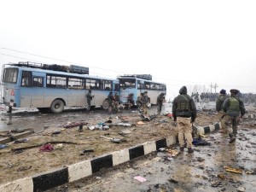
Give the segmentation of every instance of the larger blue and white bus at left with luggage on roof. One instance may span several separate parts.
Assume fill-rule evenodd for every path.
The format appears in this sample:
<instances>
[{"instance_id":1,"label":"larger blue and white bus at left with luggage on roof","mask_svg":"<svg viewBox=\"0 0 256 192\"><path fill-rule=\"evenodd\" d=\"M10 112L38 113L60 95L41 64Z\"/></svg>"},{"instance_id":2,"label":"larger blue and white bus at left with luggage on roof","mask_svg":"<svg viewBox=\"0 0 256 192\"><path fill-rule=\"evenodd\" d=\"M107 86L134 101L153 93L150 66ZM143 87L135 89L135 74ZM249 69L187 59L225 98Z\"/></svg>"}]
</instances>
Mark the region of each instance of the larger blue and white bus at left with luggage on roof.
<instances>
[{"instance_id":1,"label":"larger blue and white bus at left with luggage on roof","mask_svg":"<svg viewBox=\"0 0 256 192\"><path fill-rule=\"evenodd\" d=\"M64 107L86 107L86 94L95 96L91 107L108 109L108 94L119 91L119 80L89 75L88 67L33 62L3 65L3 104L61 113Z\"/></svg>"}]
</instances>

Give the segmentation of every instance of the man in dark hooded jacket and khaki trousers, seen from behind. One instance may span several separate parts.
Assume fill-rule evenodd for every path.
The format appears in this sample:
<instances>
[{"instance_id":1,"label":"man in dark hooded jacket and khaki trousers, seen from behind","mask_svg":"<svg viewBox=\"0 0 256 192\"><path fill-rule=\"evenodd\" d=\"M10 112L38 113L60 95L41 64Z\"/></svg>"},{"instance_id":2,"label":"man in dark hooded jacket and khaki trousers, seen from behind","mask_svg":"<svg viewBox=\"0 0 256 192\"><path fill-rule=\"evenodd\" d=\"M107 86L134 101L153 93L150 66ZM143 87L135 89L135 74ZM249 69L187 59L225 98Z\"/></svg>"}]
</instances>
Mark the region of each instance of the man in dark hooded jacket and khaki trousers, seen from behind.
<instances>
[{"instance_id":1,"label":"man in dark hooded jacket and khaki trousers, seen from behind","mask_svg":"<svg viewBox=\"0 0 256 192\"><path fill-rule=\"evenodd\" d=\"M194 100L187 95L187 88L183 86L179 90L179 96L175 97L172 103L172 115L177 121L178 142L180 150L184 150L184 136L187 139L188 153L193 153L192 149L192 123L196 118L196 108Z\"/></svg>"}]
</instances>

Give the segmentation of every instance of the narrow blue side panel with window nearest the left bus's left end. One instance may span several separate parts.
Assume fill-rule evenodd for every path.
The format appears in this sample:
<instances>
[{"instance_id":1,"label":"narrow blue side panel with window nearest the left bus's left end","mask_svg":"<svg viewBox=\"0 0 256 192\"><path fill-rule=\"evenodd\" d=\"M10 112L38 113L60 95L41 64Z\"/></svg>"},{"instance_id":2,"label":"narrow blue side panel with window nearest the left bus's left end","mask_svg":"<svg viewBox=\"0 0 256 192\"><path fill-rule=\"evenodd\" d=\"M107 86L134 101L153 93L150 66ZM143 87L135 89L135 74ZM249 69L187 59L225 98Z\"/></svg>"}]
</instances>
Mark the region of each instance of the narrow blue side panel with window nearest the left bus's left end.
<instances>
[{"instance_id":1,"label":"narrow blue side panel with window nearest the left bus's left end","mask_svg":"<svg viewBox=\"0 0 256 192\"><path fill-rule=\"evenodd\" d=\"M20 108L30 108L32 96L32 72L21 71Z\"/></svg>"}]
</instances>

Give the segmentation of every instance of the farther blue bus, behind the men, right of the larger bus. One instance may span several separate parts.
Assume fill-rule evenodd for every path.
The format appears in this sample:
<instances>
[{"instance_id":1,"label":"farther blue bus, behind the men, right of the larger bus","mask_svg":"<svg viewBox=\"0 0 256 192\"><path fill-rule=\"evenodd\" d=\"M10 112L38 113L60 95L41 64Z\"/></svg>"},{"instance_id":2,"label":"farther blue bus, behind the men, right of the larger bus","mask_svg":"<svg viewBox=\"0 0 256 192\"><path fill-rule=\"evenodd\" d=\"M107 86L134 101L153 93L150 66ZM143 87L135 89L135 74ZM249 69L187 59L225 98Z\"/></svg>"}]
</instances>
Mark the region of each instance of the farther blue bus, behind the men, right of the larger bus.
<instances>
[{"instance_id":1,"label":"farther blue bus, behind the men, right of the larger bus","mask_svg":"<svg viewBox=\"0 0 256 192\"><path fill-rule=\"evenodd\" d=\"M134 102L137 103L138 96L148 91L150 104L155 105L157 96L162 92L166 94L166 84L152 81L152 76L148 74L123 75L118 79L119 99L122 103L127 103L130 94L133 94Z\"/></svg>"}]
</instances>

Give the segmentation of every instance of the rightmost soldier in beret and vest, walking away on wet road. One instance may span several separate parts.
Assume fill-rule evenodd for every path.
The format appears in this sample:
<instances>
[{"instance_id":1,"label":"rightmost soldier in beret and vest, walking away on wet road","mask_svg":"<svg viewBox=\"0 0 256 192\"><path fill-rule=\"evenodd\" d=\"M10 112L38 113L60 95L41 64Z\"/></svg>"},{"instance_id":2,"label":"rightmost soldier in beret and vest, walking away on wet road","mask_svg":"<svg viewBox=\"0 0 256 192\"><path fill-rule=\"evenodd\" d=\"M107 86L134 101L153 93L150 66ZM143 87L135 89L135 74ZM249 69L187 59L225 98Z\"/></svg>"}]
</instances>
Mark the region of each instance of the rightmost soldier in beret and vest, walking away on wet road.
<instances>
[{"instance_id":1,"label":"rightmost soldier in beret and vest, walking away on wet road","mask_svg":"<svg viewBox=\"0 0 256 192\"><path fill-rule=\"evenodd\" d=\"M244 104L237 97L238 93L239 90L230 90L230 97L225 99L223 104L223 110L226 114L225 125L228 126L230 143L234 143L236 141L237 121L245 114Z\"/></svg>"}]
</instances>

